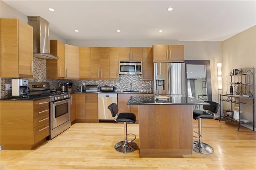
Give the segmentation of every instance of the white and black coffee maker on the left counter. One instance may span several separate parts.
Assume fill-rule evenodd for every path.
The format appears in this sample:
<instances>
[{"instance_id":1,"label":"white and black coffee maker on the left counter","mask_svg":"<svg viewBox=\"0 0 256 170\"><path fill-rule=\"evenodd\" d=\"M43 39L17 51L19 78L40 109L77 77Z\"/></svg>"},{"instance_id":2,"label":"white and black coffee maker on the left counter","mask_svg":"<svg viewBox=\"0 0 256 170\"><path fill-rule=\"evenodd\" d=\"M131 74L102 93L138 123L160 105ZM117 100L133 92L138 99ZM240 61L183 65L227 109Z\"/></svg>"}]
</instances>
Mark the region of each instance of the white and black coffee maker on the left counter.
<instances>
[{"instance_id":1,"label":"white and black coffee maker on the left counter","mask_svg":"<svg viewBox=\"0 0 256 170\"><path fill-rule=\"evenodd\" d=\"M31 93L28 79L12 79L12 97L24 98Z\"/></svg>"}]
</instances>

